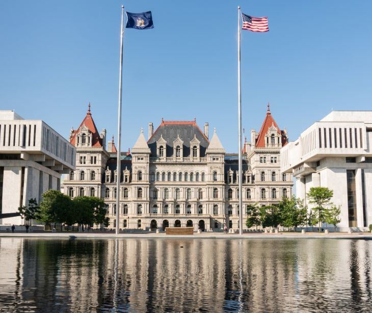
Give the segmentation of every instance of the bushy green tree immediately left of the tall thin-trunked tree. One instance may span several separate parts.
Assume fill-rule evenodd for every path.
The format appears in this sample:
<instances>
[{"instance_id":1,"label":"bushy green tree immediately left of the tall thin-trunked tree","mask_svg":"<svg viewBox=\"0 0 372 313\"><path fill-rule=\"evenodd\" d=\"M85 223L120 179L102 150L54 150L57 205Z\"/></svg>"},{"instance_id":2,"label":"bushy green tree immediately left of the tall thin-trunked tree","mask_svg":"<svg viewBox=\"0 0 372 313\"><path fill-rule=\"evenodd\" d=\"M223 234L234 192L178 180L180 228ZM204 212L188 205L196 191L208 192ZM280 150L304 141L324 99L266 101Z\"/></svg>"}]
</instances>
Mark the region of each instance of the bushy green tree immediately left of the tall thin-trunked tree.
<instances>
[{"instance_id":1,"label":"bushy green tree immediately left of the tall thin-trunked tree","mask_svg":"<svg viewBox=\"0 0 372 313\"><path fill-rule=\"evenodd\" d=\"M284 227L295 227L306 223L306 207L304 202L295 196L283 198L279 202L281 224Z\"/></svg>"}]
</instances>

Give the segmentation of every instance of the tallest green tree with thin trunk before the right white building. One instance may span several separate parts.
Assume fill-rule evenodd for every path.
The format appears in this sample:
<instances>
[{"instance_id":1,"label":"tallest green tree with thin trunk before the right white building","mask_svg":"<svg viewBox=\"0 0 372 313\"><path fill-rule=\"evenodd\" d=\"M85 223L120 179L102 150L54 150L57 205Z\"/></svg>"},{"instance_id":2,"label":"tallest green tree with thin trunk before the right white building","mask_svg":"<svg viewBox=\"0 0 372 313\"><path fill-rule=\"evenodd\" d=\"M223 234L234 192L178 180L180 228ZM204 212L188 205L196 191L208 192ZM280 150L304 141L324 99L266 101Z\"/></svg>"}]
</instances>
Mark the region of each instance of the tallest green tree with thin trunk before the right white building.
<instances>
[{"instance_id":1,"label":"tallest green tree with thin trunk before the right white building","mask_svg":"<svg viewBox=\"0 0 372 313\"><path fill-rule=\"evenodd\" d=\"M319 225L318 231L321 231L322 223L326 221L326 211L332 204L333 191L327 187L311 187L307 193L310 203L316 204L312 210L316 213L316 219Z\"/></svg>"}]
</instances>

